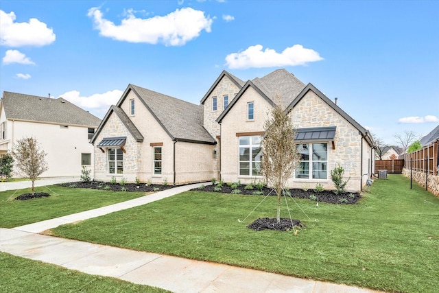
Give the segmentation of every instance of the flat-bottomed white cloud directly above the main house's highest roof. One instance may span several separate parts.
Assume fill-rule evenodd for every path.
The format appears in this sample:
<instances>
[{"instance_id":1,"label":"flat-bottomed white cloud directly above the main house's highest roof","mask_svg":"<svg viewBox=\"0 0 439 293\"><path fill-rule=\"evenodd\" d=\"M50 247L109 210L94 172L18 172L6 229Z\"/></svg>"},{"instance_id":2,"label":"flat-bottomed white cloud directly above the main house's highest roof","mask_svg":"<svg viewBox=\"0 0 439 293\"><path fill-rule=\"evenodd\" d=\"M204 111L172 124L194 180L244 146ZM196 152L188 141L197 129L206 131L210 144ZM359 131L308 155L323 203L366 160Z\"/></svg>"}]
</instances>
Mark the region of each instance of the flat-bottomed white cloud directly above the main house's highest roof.
<instances>
[{"instance_id":1,"label":"flat-bottomed white cloud directly above the main house's highest roof","mask_svg":"<svg viewBox=\"0 0 439 293\"><path fill-rule=\"evenodd\" d=\"M273 49L262 51L262 45L248 47L245 51L226 56L226 65L230 69L246 69L250 67L283 67L306 65L308 62L323 60L318 52L306 49L302 45L294 45L277 53Z\"/></svg>"}]
</instances>

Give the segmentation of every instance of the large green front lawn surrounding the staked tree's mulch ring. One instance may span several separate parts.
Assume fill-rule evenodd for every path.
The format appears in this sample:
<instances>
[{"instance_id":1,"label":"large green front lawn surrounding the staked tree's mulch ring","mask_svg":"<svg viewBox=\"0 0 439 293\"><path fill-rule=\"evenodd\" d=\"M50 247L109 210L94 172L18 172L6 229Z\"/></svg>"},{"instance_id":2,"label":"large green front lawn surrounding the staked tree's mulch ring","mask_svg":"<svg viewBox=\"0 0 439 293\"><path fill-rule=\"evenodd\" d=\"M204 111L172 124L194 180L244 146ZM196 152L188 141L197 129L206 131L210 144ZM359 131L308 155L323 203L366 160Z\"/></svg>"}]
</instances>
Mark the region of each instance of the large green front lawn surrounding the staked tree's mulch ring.
<instances>
[{"instance_id":1,"label":"large green front lawn surrounding the staked tree's mulch ring","mask_svg":"<svg viewBox=\"0 0 439 293\"><path fill-rule=\"evenodd\" d=\"M392 292L438 292L439 198L401 175L375 180L355 205L289 199L292 231L253 231L276 198L187 191L55 235ZM257 209L244 221L244 218ZM285 203L283 203L285 208ZM288 213L283 209L283 218ZM244 221L239 222L238 220Z\"/></svg>"}]
</instances>

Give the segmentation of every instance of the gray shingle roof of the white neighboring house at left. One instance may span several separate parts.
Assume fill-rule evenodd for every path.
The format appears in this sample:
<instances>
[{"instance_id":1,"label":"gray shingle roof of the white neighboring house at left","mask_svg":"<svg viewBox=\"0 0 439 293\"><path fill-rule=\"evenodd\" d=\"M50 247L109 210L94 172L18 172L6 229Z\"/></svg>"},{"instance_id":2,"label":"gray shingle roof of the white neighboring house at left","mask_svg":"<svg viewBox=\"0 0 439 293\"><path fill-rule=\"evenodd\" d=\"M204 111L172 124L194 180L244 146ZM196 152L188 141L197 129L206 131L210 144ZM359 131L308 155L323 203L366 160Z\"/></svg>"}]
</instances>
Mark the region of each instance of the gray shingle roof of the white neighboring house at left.
<instances>
[{"instance_id":1,"label":"gray shingle roof of the white neighboring house at left","mask_svg":"<svg viewBox=\"0 0 439 293\"><path fill-rule=\"evenodd\" d=\"M1 102L6 119L94 127L101 122L101 119L62 97L51 99L5 91Z\"/></svg>"}]
</instances>

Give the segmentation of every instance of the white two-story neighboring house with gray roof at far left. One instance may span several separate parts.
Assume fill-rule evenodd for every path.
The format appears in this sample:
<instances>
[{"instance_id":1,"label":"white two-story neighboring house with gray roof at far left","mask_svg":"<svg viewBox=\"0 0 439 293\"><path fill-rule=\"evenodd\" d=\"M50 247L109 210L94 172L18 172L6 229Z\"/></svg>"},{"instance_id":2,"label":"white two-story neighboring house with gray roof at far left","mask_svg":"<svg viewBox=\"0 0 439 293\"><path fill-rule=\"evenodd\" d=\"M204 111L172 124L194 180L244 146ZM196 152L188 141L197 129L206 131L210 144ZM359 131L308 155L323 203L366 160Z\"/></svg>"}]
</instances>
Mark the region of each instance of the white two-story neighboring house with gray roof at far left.
<instances>
[{"instance_id":1,"label":"white two-story neighboring house with gray roof at far left","mask_svg":"<svg viewBox=\"0 0 439 293\"><path fill-rule=\"evenodd\" d=\"M0 100L0 156L14 143L34 137L47 154L42 177L80 176L82 166L93 169L89 143L101 119L59 97L3 92Z\"/></svg>"}]
</instances>

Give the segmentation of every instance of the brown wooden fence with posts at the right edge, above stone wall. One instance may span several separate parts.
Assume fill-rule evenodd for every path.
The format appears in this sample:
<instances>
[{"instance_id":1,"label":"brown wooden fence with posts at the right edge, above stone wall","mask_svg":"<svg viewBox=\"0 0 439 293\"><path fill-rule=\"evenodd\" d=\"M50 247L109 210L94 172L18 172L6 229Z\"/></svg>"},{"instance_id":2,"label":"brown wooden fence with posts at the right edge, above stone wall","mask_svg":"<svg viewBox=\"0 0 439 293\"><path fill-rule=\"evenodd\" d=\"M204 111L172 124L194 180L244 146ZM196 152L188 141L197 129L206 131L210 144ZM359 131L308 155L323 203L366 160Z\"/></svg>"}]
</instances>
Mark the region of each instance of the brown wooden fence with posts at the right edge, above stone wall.
<instances>
[{"instance_id":1,"label":"brown wooden fence with posts at the right edge, above stone wall","mask_svg":"<svg viewBox=\"0 0 439 293\"><path fill-rule=\"evenodd\" d=\"M426 145L421 150L404 154L405 168L413 171L420 171L432 175L439 175L439 160L438 160L438 145L439 142Z\"/></svg>"}]
</instances>

